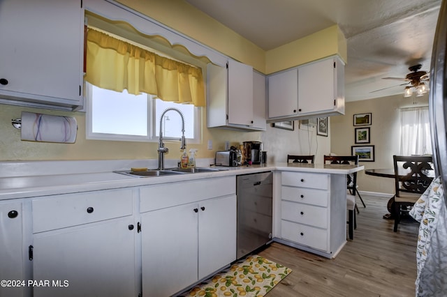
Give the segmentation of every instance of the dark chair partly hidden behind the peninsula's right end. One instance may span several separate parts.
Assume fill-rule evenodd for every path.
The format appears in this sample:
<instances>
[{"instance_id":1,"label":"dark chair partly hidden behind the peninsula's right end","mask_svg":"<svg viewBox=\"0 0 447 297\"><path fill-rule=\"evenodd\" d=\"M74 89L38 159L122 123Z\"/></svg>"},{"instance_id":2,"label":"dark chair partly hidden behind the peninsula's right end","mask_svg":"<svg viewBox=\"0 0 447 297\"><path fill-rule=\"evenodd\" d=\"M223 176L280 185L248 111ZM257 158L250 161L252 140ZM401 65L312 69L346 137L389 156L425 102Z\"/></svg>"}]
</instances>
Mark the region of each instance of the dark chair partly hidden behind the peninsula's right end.
<instances>
[{"instance_id":1,"label":"dark chair partly hidden behind the peninsula's right end","mask_svg":"<svg viewBox=\"0 0 447 297\"><path fill-rule=\"evenodd\" d=\"M358 165L358 155L324 155L324 164L353 164ZM346 209L348 210L348 234L349 239L354 238L354 229L357 229L356 210L356 192L357 192L357 172L346 176ZM360 195L359 195L360 197ZM360 200L362 197L360 197ZM363 201L362 201L363 202Z\"/></svg>"}]
</instances>

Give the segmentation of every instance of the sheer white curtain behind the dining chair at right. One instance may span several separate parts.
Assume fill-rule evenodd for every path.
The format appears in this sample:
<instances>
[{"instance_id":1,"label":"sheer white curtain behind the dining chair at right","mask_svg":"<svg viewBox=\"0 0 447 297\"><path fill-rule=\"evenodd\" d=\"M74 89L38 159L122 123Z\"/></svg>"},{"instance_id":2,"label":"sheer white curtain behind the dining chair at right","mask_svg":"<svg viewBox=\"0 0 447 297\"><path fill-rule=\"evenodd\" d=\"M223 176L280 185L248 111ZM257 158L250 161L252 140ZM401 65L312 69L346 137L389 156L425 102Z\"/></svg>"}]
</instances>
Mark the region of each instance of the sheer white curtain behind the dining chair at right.
<instances>
[{"instance_id":1,"label":"sheer white curtain behind the dining chair at right","mask_svg":"<svg viewBox=\"0 0 447 297\"><path fill-rule=\"evenodd\" d=\"M400 110L401 155L424 155L432 153L428 107L414 107Z\"/></svg>"}]
</instances>

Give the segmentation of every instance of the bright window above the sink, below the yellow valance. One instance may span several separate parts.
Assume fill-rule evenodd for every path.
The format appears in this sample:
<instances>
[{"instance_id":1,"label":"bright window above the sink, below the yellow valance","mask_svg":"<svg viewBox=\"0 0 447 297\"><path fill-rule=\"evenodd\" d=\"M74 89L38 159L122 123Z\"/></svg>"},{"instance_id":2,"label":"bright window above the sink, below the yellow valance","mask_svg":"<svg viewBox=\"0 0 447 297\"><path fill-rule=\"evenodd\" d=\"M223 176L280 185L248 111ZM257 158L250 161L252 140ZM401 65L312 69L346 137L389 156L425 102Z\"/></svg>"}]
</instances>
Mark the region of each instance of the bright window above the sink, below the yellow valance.
<instances>
[{"instance_id":1,"label":"bright window above the sink, below the yellow valance","mask_svg":"<svg viewBox=\"0 0 447 297\"><path fill-rule=\"evenodd\" d=\"M189 104L166 102L147 94L132 95L87 85L87 139L156 142L161 114L168 107L184 115L185 137L189 143L200 142L201 108ZM168 111L161 121L164 139L182 136L182 119Z\"/></svg>"}]
</instances>

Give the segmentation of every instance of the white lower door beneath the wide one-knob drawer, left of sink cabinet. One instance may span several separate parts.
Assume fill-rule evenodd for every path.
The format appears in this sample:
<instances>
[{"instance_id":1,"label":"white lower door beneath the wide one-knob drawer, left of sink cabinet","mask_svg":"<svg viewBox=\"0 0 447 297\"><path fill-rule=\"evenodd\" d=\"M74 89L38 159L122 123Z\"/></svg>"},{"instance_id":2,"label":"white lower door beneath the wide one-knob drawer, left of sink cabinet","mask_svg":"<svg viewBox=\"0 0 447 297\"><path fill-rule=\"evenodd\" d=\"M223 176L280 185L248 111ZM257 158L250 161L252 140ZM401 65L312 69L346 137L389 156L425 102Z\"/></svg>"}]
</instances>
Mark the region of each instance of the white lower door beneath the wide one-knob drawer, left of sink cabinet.
<instances>
[{"instance_id":1,"label":"white lower door beneath the wide one-knob drawer, left of sink cabinet","mask_svg":"<svg viewBox=\"0 0 447 297\"><path fill-rule=\"evenodd\" d=\"M132 217L34 235L34 296L137 296Z\"/></svg>"}]
</instances>

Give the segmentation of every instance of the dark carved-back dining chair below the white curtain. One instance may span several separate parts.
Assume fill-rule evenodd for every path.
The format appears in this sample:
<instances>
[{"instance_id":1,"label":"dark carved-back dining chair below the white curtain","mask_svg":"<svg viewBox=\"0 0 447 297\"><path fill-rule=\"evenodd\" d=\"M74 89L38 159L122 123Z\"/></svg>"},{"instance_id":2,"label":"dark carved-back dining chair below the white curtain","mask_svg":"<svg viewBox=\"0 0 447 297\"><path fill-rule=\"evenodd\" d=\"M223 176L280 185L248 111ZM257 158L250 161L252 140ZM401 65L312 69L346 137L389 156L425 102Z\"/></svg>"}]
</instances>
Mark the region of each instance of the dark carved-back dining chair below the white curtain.
<instances>
[{"instance_id":1,"label":"dark carved-back dining chair below the white curtain","mask_svg":"<svg viewBox=\"0 0 447 297\"><path fill-rule=\"evenodd\" d=\"M393 155L395 174L394 228L400 222L402 213L408 213L411 207L427 190L433 178L427 176L433 170L432 156Z\"/></svg>"}]
</instances>

